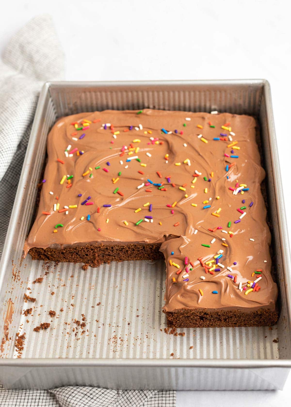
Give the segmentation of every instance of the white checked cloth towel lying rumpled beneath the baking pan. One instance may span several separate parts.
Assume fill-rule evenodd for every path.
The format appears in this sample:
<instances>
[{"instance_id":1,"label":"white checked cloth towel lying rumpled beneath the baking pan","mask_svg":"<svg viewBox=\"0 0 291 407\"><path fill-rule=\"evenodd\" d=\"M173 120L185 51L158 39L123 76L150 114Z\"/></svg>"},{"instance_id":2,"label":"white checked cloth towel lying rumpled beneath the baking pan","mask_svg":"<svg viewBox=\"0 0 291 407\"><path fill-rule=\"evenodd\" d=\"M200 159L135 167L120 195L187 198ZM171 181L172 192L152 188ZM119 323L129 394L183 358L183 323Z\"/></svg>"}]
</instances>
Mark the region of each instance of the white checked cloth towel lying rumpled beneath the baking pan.
<instances>
[{"instance_id":1,"label":"white checked cloth towel lying rumpled beneath the baking pan","mask_svg":"<svg viewBox=\"0 0 291 407\"><path fill-rule=\"evenodd\" d=\"M0 254L40 89L64 78L64 53L49 15L33 18L16 33L0 62ZM7 407L173 407L176 392L60 387L9 390L0 387Z\"/></svg>"}]
</instances>

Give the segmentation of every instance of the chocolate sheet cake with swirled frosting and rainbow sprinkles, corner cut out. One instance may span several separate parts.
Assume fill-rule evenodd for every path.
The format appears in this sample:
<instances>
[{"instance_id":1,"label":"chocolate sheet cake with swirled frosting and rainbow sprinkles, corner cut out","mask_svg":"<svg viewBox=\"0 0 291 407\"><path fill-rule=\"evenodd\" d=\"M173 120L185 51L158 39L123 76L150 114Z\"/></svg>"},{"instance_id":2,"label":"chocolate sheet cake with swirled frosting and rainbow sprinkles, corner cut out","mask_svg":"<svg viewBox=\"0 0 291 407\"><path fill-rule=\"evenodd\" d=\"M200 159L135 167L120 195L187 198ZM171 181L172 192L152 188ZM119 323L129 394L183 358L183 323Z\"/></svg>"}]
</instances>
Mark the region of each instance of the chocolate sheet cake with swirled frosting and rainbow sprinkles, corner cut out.
<instances>
[{"instance_id":1,"label":"chocolate sheet cake with swirled frosting and rainbow sprinkles, corner cut out","mask_svg":"<svg viewBox=\"0 0 291 407\"><path fill-rule=\"evenodd\" d=\"M81 113L57 121L47 152L25 256L85 268L165 258L168 326L276 322L253 117Z\"/></svg>"}]
</instances>

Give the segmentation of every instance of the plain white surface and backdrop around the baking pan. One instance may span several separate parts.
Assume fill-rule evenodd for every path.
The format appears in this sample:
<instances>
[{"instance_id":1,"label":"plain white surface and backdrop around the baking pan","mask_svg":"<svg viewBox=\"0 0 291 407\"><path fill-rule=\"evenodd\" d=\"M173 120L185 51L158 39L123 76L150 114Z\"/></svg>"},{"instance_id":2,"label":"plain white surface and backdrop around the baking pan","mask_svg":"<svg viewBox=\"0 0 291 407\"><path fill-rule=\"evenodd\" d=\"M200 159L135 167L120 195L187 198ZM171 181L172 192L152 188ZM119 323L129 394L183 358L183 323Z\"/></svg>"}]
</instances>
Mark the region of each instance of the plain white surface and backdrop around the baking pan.
<instances>
[{"instance_id":1,"label":"plain white surface and backdrop around the baking pan","mask_svg":"<svg viewBox=\"0 0 291 407\"><path fill-rule=\"evenodd\" d=\"M249 79L271 83L288 227L290 197L289 1L1 2L0 50L40 13L53 16L66 80ZM177 392L177 406L287 406L283 392Z\"/></svg>"}]
</instances>

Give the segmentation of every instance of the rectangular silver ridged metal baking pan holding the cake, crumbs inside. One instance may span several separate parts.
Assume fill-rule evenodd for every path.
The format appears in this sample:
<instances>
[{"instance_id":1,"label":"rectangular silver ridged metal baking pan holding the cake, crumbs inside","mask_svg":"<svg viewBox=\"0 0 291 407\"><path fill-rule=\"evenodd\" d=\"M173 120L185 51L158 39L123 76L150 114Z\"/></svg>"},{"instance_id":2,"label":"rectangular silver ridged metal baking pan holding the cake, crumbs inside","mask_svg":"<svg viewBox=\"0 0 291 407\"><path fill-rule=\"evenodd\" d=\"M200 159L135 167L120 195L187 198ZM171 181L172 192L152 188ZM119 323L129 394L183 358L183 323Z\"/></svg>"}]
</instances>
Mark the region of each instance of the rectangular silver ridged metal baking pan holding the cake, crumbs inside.
<instances>
[{"instance_id":1,"label":"rectangular silver ridged metal baking pan holding the cake, crumbs inside","mask_svg":"<svg viewBox=\"0 0 291 407\"><path fill-rule=\"evenodd\" d=\"M144 107L218 110L258 119L280 291L280 318L272 330L188 328L179 330L185 336L167 335L163 332L165 315L161 313L163 262L111 263L83 271L80 265L71 263L44 266L30 256L23 260L24 239L33 221L37 183L44 166L46 137L56 119L79 112ZM46 83L38 101L0 264L1 383L30 389L63 385L282 389L291 368L290 256L283 202L267 81ZM33 284L37 277L44 278L41 284ZM24 293L37 301L25 304ZM29 307L33 307L32 314L23 315ZM56 311L57 317L50 318L50 310ZM74 321L82 321L82 314L86 326L81 329ZM51 322L51 327L34 332L41 322ZM24 332L23 349L17 350L16 333Z\"/></svg>"}]
</instances>

